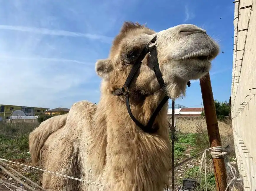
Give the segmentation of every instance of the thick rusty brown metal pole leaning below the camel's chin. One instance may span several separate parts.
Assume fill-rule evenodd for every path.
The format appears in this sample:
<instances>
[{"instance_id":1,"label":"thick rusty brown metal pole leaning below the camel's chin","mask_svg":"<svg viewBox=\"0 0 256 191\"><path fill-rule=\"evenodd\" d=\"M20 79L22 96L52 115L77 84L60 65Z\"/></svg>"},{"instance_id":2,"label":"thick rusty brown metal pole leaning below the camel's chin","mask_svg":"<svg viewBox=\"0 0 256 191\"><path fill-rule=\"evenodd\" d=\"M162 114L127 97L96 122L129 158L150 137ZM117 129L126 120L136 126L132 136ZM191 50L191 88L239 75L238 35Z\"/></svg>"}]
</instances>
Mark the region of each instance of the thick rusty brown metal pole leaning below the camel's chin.
<instances>
[{"instance_id":1,"label":"thick rusty brown metal pole leaning below the camel's chin","mask_svg":"<svg viewBox=\"0 0 256 191\"><path fill-rule=\"evenodd\" d=\"M213 99L210 74L206 74L203 79L200 79L200 86L203 98L203 106L208 130L210 147L221 146L221 138L219 126ZM227 174L224 158L213 158L214 175L216 181L216 190L224 191L227 187ZM229 191L229 189L228 189Z\"/></svg>"}]
</instances>

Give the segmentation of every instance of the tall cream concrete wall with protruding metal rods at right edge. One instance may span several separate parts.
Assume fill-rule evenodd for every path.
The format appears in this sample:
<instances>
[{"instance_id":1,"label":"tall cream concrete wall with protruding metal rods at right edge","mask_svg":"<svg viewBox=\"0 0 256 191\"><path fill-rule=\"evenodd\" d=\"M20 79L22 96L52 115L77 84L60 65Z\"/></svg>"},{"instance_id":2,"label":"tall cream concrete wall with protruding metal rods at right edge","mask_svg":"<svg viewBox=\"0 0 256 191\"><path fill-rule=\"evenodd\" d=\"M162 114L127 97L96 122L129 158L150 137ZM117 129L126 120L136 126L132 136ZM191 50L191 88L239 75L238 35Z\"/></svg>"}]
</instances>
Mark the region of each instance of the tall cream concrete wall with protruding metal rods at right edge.
<instances>
[{"instance_id":1,"label":"tall cream concrete wall with protruding metal rods at right edge","mask_svg":"<svg viewBox=\"0 0 256 191\"><path fill-rule=\"evenodd\" d=\"M251 6L246 8L245 6ZM244 190L256 190L256 0L234 3L231 117Z\"/></svg>"}]
</instances>

